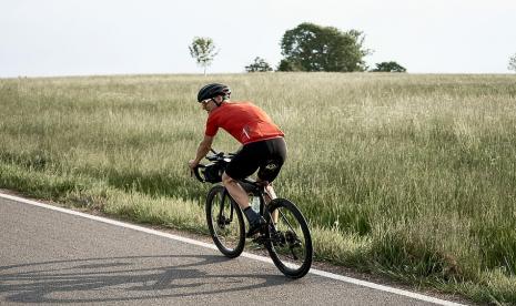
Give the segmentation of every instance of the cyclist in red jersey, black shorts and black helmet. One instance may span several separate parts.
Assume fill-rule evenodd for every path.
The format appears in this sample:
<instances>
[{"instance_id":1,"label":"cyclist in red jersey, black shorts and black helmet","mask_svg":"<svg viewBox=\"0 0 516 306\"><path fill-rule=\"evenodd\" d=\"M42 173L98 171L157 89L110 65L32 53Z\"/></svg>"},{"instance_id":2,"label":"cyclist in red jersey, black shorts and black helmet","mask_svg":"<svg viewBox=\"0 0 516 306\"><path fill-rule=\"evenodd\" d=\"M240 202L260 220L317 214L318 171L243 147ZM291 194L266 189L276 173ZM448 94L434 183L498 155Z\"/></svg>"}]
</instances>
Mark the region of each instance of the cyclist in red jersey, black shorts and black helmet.
<instances>
[{"instance_id":1,"label":"cyclist in red jersey, black shorts and black helmet","mask_svg":"<svg viewBox=\"0 0 516 306\"><path fill-rule=\"evenodd\" d=\"M199 144L195 159L189 162L189 166L195 169L210 152L220 128L242 144L222 174L222 184L244 212L250 224L247 232L250 237L264 226L265 221L251 208L249 195L236 180L245 178L257 170L257 181L266 186L269 194L266 201L275 198L276 195L270 183L276 178L286 159L286 143L284 133L262 109L251 102L230 101L230 95L231 89L219 83L208 84L199 91L198 102L208 112L208 121L204 139Z\"/></svg>"}]
</instances>

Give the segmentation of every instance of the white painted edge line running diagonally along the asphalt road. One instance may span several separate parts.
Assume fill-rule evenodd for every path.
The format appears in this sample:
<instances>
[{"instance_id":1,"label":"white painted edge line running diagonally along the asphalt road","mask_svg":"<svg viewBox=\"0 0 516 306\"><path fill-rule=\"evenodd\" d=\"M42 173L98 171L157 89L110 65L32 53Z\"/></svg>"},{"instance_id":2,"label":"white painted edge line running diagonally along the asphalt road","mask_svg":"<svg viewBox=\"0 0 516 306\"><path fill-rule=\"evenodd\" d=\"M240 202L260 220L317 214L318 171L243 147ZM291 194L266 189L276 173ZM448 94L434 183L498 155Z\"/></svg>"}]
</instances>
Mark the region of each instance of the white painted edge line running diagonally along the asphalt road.
<instances>
[{"instance_id":1,"label":"white painted edge line running diagonally along the asphalt road","mask_svg":"<svg viewBox=\"0 0 516 306\"><path fill-rule=\"evenodd\" d=\"M24 203L24 204L39 206L39 207L43 207L43 208L48 208L48 210L52 210L52 211L58 211L58 212L70 214L70 215L81 216L81 217L85 217L85 218L89 218L89 220L94 220L94 221L99 221L99 222L103 222L103 223L108 223L108 224L112 224L112 225L117 225L117 226L122 226L122 227L125 227L125 228L132 228L132 230L140 231L140 232L143 232L143 233L148 233L148 234L152 234L152 235L156 235L156 236L161 236L161 237L166 237L166 238L171 238L171 239L174 239L174 241L179 241L179 242L183 242L183 243L188 243L188 244L193 244L193 245L198 245L198 246L202 246L202 247L208 247L208 248L215 249L215 251L217 249L215 245L212 245L212 244L209 244L209 243L203 243L203 242L200 242L200 241L185 238L185 237L182 237L182 236L168 234L168 233L159 232L159 231L155 231L155 230L146 228L146 227L143 227L143 226L138 226L138 225L133 225L133 224L129 224L129 223L124 223L124 222L120 222L120 221L114 221L114 220L110 220L110 218L105 218L105 217L101 217L101 216L89 215L89 214L67 210L67 208L59 207L59 206L52 206L52 205L39 203L39 202L36 202L36 201L27 200L27 198L19 197L19 196L13 196L13 195L9 195L9 194L0 193L0 197L7 198L7 200L12 200L12 201ZM254 255L254 254L250 254L250 253L246 253L246 252L242 253L241 256L272 264L271 258ZM388 286L384 286L384 285L378 285L378 284L375 284L375 283L365 282L365 280L361 280L361 279L356 279L356 278L352 278L352 277L347 277L347 276L342 276L342 275L337 275L337 274L333 274L333 273L328 273L328 272L324 272L324 271L320 271L320 269L312 268L310 271L310 273L314 274L314 275L332 278L332 279L335 279L335 280L341 280L341 282L358 285L358 286L364 286L364 287L368 287L368 288L373 288L373 289L377 289L377 290L382 290L382 292L387 292L387 293L392 293L392 294L397 294L397 295L411 297L411 298L414 298L414 299L419 299L419 300L424 300L424 302L434 303L434 304L437 304L437 305L446 305L446 306L463 305L463 304L457 304L457 303L449 302L449 300L435 298L435 297L432 297L432 296L426 296L426 295L422 295L422 294L417 294L417 293L413 293L413 292L408 292L408 290L403 290L403 289L397 289L397 288L393 288L393 287L388 287Z\"/></svg>"}]
</instances>

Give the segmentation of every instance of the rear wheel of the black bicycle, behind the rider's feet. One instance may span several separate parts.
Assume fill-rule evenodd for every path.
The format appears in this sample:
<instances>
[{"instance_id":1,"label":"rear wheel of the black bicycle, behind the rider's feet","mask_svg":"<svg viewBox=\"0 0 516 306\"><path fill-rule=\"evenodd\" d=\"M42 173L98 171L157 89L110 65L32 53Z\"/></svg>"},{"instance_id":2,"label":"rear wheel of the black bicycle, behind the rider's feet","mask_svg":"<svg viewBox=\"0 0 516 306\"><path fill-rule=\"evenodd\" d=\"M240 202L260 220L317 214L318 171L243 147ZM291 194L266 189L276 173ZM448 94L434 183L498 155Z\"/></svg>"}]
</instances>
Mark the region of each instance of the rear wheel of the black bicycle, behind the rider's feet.
<instances>
[{"instance_id":1,"label":"rear wheel of the black bicycle, behind the rider's feet","mask_svg":"<svg viewBox=\"0 0 516 306\"><path fill-rule=\"evenodd\" d=\"M276 267L287 277L301 278L312 266L313 247L308 225L294 203L275 198L267 205L266 244L269 255ZM273 226L272 213L277 211L277 224Z\"/></svg>"}]
</instances>

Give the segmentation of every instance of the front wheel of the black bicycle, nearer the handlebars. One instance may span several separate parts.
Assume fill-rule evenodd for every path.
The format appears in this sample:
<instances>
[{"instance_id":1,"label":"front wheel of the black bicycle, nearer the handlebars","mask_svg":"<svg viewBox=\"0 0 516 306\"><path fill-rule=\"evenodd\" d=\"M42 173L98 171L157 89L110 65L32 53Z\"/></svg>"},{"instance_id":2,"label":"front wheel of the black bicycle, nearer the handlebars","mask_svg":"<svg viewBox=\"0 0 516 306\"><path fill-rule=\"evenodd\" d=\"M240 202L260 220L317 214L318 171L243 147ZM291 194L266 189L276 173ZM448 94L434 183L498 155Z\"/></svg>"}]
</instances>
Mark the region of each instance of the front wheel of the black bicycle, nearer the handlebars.
<instances>
[{"instance_id":1,"label":"front wheel of the black bicycle, nearer the handlebars","mask_svg":"<svg viewBox=\"0 0 516 306\"><path fill-rule=\"evenodd\" d=\"M219 251L230 258L240 256L245 245L242 211L223 186L213 186L206 197L208 228Z\"/></svg>"}]
</instances>

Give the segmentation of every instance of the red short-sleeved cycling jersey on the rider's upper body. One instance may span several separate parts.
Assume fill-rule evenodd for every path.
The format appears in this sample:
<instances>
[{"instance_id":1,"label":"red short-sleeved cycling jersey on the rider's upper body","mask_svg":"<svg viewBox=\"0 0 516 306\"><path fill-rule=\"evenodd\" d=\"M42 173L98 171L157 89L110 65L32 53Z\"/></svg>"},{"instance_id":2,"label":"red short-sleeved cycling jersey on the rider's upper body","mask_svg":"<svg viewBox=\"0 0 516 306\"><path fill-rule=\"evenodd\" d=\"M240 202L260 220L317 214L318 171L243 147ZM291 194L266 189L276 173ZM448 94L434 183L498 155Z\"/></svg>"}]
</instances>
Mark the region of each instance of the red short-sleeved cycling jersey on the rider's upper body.
<instances>
[{"instance_id":1,"label":"red short-sleeved cycling jersey on the rider's upper body","mask_svg":"<svg viewBox=\"0 0 516 306\"><path fill-rule=\"evenodd\" d=\"M206 136L213 137L219 128L242 144L284 136L271 118L251 102L224 102L211 111L206 121Z\"/></svg>"}]
</instances>

